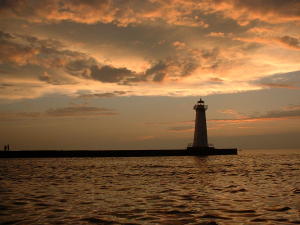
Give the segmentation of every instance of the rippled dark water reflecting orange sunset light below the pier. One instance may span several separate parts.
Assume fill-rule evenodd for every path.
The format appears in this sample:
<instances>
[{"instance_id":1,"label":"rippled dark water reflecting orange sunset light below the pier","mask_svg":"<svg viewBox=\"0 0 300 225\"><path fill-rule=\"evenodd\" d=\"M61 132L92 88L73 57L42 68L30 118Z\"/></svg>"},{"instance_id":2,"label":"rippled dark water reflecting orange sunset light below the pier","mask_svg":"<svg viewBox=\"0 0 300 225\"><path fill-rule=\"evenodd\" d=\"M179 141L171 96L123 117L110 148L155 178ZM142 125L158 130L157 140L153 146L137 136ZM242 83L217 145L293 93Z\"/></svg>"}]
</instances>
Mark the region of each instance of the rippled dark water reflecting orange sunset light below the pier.
<instances>
[{"instance_id":1,"label":"rippled dark water reflecting orange sunset light below the pier","mask_svg":"<svg viewBox=\"0 0 300 225\"><path fill-rule=\"evenodd\" d=\"M1 224L300 224L300 151L0 159Z\"/></svg>"}]
</instances>

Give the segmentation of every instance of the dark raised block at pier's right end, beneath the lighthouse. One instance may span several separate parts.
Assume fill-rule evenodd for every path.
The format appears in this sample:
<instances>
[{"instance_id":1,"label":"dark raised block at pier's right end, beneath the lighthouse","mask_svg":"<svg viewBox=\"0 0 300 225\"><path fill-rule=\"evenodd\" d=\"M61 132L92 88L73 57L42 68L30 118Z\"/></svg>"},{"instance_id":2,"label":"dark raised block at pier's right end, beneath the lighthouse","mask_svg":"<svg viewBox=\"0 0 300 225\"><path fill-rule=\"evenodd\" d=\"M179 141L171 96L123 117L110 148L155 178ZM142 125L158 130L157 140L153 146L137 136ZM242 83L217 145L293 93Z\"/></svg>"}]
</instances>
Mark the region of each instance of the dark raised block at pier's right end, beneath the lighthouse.
<instances>
[{"instance_id":1,"label":"dark raised block at pier's right end, beneath the lighthouse","mask_svg":"<svg viewBox=\"0 0 300 225\"><path fill-rule=\"evenodd\" d=\"M190 155L237 155L236 148L187 147Z\"/></svg>"}]
</instances>

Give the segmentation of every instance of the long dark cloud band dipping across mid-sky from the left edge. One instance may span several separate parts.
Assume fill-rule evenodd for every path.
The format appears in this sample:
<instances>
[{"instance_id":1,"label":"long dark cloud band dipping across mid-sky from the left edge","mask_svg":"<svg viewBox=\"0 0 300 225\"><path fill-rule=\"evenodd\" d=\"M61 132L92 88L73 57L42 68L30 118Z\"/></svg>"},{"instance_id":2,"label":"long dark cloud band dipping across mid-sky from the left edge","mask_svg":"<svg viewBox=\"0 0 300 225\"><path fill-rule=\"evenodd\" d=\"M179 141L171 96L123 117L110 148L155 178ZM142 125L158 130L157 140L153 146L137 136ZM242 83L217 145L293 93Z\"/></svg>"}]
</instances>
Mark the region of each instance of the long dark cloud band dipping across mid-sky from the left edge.
<instances>
[{"instance_id":1,"label":"long dark cloud band dipping across mid-sky from the left edge","mask_svg":"<svg viewBox=\"0 0 300 225\"><path fill-rule=\"evenodd\" d=\"M180 79L190 76L198 67L215 67L218 57L216 48L195 49L182 42L174 42L174 55L153 60L149 68L137 73L126 67L114 67L98 62L88 54L71 51L55 40L5 32L1 33L1 37L2 64L39 66L44 72L38 76L38 80L52 85L78 82L74 78L123 85L148 81L162 82L166 78Z\"/></svg>"}]
</instances>

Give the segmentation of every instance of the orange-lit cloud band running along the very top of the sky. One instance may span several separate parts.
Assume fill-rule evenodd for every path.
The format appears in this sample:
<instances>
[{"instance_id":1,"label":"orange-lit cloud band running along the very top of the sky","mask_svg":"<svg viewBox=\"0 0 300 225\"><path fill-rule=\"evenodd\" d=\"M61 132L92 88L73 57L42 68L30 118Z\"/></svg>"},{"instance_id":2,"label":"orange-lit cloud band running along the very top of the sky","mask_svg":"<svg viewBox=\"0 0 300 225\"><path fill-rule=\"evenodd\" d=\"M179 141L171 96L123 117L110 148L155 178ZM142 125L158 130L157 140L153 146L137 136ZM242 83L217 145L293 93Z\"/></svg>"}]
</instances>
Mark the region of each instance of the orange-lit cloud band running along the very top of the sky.
<instances>
[{"instance_id":1,"label":"orange-lit cloud band running along the very top of the sky","mask_svg":"<svg viewBox=\"0 0 300 225\"><path fill-rule=\"evenodd\" d=\"M175 26L209 27L205 16L221 14L241 25L299 21L298 0L3 0L0 15L37 23L112 23L117 26L164 22Z\"/></svg>"}]
</instances>

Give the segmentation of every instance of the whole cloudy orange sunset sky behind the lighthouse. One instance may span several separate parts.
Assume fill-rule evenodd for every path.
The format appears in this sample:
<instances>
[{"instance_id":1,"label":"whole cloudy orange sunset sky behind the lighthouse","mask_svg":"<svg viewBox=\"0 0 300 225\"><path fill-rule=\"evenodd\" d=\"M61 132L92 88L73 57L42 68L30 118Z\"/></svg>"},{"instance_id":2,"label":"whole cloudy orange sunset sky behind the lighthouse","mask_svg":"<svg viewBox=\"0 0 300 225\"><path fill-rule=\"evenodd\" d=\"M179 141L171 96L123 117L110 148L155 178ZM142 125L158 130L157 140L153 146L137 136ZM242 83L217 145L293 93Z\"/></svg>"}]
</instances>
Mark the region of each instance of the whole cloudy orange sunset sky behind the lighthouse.
<instances>
[{"instance_id":1,"label":"whole cloudy orange sunset sky behind the lighthouse","mask_svg":"<svg viewBox=\"0 0 300 225\"><path fill-rule=\"evenodd\" d=\"M300 148L299 0L1 0L0 146Z\"/></svg>"}]
</instances>

